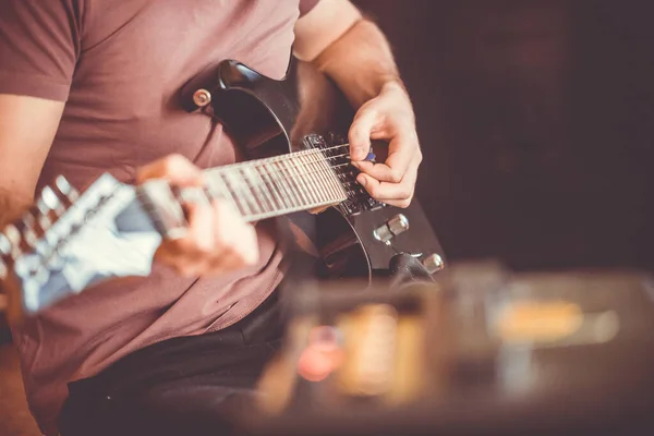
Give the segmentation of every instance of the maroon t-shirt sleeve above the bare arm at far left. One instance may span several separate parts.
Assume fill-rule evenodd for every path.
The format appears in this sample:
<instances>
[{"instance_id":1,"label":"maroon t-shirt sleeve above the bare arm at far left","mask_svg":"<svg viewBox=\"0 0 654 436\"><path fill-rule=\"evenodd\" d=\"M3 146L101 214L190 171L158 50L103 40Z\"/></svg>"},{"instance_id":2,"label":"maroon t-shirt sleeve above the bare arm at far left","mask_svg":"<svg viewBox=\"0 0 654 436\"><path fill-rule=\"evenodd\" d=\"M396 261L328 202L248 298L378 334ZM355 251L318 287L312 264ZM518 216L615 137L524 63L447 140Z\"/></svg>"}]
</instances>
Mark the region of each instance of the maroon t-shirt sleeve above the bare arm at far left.
<instances>
[{"instance_id":1,"label":"maroon t-shirt sleeve above the bare arm at far left","mask_svg":"<svg viewBox=\"0 0 654 436\"><path fill-rule=\"evenodd\" d=\"M0 0L0 94L65 101L83 0Z\"/></svg>"}]
</instances>

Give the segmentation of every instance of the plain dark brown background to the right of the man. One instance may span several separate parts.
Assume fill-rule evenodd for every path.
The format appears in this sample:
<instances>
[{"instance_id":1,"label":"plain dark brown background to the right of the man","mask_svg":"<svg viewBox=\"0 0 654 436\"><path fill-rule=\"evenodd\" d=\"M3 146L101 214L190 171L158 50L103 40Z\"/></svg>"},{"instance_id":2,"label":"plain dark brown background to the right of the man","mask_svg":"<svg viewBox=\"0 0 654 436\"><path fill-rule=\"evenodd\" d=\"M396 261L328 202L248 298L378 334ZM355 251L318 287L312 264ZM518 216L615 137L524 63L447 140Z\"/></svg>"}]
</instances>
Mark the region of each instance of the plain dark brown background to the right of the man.
<instances>
[{"instance_id":1,"label":"plain dark brown background to the right of the man","mask_svg":"<svg viewBox=\"0 0 654 436\"><path fill-rule=\"evenodd\" d=\"M654 267L654 8L359 0L387 33L450 259Z\"/></svg>"}]
</instances>

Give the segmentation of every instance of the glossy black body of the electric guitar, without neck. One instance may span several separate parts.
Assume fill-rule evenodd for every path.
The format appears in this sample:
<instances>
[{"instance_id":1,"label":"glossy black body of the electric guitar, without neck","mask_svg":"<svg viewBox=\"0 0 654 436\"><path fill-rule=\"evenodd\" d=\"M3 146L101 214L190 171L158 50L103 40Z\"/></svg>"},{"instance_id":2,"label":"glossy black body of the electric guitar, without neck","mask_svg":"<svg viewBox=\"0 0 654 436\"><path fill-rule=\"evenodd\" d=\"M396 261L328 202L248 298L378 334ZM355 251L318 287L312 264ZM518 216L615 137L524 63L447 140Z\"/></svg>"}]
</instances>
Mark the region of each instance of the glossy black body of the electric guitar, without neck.
<instances>
[{"instance_id":1,"label":"glossy black body of the electric guitar, without neck","mask_svg":"<svg viewBox=\"0 0 654 436\"><path fill-rule=\"evenodd\" d=\"M193 99L198 89L210 94L210 111L247 158L347 143L353 110L338 88L307 63L292 59L286 77L276 81L240 62L223 61L182 89L183 106L190 111L199 109ZM407 219L408 230L387 243L375 238L375 229L399 215ZM416 199L400 209L363 198L362 204L330 207L315 218L294 214L291 220L315 244L323 277L384 276L398 253L445 259Z\"/></svg>"}]
</instances>

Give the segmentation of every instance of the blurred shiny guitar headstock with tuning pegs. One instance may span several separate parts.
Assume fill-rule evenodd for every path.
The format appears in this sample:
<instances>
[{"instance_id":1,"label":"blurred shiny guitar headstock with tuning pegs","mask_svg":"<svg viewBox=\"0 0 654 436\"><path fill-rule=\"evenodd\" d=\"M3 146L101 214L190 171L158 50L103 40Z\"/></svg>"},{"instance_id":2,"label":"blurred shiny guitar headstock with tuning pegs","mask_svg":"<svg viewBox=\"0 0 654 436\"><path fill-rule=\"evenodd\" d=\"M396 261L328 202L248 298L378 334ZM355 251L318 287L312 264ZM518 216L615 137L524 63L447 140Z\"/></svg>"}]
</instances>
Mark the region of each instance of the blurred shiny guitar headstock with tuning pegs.
<instances>
[{"instance_id":1,"label":"blurred shiny guitar headstock with tuning pegs","mask_svg":"<svg viewBox=\"0 0 654 436\"><path fill-rule=\"evenodd\" d=\"M20 320L100 281L147 276L161 242L133 186L104 174L80 194L59 177L0 232L0 288Z\"/></svg>"}]
</instances>

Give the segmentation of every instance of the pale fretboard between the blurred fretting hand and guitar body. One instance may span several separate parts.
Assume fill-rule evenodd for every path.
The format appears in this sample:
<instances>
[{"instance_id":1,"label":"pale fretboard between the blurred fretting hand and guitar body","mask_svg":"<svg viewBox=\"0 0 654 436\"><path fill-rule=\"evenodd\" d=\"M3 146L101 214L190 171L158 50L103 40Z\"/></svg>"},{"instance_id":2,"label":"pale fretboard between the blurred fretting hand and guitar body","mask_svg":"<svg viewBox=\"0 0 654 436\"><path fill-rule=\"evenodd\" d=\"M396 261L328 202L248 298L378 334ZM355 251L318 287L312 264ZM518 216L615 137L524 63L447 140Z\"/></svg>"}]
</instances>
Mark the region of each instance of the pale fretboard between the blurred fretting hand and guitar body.
<instances>
[{"instance_id":1,"label":"pale fretboard between the blurred fretting hand and guitar body","mask_svg":"<svg viewBox=\"0 0 654 436\"><path fill-rule=\"evenodd\" d=\"M246 221L343 202L348 196L319 149L206 170L208 191L230 202Z\"/></svg>"}]
</instances>

